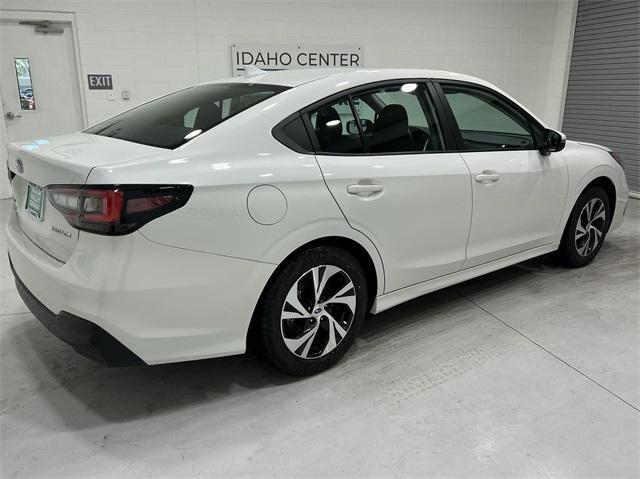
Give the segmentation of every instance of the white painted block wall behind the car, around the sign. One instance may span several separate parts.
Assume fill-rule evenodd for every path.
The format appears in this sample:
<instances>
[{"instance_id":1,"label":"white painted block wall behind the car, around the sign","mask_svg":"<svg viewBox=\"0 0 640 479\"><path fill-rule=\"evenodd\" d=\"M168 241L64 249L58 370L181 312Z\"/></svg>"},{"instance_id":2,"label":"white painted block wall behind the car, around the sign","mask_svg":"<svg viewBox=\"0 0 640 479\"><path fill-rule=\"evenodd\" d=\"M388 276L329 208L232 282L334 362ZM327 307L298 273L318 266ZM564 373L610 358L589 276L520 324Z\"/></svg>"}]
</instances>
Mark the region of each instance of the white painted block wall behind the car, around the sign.
<instances>
[{"instance_id":1,"label":"white painted block wall behind the car, around the sign","mask_svg":"<svg viewBox=\"0 0 640 479\"><path fill-rule=\"evenodd\" d=\"M107 101L84 85L89 123L229 76L232 43L268 42L358 45L367 67L470 73L556 126L574 0L2 0L2 8L75 12L83 78L111 73L117 94L133 93Z\"/></svg>"}]
</instances>

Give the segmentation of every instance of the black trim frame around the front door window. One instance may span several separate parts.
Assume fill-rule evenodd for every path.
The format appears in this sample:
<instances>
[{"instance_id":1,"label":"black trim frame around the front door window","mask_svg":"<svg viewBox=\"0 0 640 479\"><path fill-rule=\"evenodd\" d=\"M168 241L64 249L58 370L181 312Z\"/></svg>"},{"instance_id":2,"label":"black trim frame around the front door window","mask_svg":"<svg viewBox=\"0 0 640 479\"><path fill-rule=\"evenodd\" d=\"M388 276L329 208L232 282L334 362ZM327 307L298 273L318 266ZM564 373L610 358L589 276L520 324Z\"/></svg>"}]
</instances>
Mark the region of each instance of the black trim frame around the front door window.
<instances>
[{"instance_id":1,"label":"black trim frame around the front door window","mask_svg":"<svg viewBox=\"0 0 640 479\"><path fill-rule=\"evenodd\" d=\"M445 117L445 122L447 125L447 130L449 130L453 135L453 141L456 146L452 152L456 153L482 153L487 151L538 151L540 149L540 142L543 141L544 132L546 128L540 124L535 118L531 116L527 111L525 111L520 105L513 102L511 99L507 98L500 92L494 90L493 88L489 88L484 85L479 85L478 83L467 82L462 80L449 80L446 78L434 78L432 79L432 85L434 88L435 94L438 96L439 106L442 109L443 117ZM451 110L451 106L449 105L449 101L444 93L442 85L452 85L452 86L463 86L465 88L469 88L470 90L478 90L483 93L489 93L496 96L499 100L503 101L511 108L520 113L529 124L529 133L533 138L534 145L531 148L486 148L479 150L469 150L464 148L464 140L462 138L462 134L460 133L460 128L458 127L458 122ZM538 129L539 134L536 133L536 129Z\"/></svg>"}]
</instances>

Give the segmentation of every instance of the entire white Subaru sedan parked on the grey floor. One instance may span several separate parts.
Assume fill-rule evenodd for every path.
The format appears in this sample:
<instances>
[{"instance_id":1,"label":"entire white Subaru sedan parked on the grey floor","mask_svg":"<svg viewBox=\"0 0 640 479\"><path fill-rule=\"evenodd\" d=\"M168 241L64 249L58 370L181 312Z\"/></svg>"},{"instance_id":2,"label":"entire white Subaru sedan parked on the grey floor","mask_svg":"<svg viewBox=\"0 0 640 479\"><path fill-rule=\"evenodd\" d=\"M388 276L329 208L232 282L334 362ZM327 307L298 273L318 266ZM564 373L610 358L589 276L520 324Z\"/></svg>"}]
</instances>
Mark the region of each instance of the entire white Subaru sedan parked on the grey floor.
<instances>
[{"instance_id":1,"label":"entire white Subaru sedan parked on the grey floor","mask_svg":"<svg viewBox=\"0 0 640 479\"><path fill-rule=\"evenodd\" d=\"M85 131L9 144L7 227L35 317L109 365L243 353L324 370L368 313L623 220L614 152L486 81L430 70L253 72Z\"/></svg>"}]
</instances>

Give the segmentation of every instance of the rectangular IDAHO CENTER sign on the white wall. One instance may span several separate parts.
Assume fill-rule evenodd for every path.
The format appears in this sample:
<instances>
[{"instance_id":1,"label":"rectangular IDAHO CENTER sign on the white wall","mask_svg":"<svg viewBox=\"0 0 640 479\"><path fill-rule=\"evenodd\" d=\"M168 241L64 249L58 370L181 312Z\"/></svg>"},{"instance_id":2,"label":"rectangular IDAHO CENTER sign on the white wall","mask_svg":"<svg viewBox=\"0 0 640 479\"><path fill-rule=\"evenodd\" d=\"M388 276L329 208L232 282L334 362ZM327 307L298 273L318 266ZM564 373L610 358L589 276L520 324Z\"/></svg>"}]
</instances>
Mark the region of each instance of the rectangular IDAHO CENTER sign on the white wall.
<instances>
[{"instance_id":1,"label":"rectangular IDAHO CENTER sign on the white wall","mask_svg":"<svg viewBox=\"0 0 640 479\"><path fill-rule=\"evenodd\" d=\"M231 66L234 75L243 75L253 65L261 70L291 70L294 68L361 67L362 48L355 46L265 45L243 43L231 46Z\"/></svg>"}]
</instances>

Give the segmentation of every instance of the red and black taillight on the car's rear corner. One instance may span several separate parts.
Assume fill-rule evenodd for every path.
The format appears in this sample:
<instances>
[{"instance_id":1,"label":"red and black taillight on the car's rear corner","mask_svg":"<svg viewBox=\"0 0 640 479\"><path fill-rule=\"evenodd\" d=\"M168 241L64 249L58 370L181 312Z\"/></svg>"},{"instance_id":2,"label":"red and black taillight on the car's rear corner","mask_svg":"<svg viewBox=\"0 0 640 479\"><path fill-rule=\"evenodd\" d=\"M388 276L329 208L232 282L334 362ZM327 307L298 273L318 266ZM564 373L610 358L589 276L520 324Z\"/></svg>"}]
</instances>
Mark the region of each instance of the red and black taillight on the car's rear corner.
<instances>
[{"instance_id":1,"label":"red and black taillight on the car's rear corner","mask_svg":"<svg viewBox=\"0 0 640 479\"><path fill-rule=\"evenodd\" d=\"M131 233L184 206L191 185L50 185L49 202L80 230L103 235Z\"/></svg>"}]
</instances>

